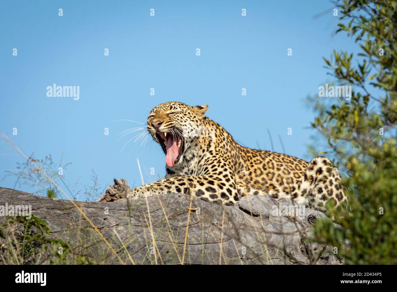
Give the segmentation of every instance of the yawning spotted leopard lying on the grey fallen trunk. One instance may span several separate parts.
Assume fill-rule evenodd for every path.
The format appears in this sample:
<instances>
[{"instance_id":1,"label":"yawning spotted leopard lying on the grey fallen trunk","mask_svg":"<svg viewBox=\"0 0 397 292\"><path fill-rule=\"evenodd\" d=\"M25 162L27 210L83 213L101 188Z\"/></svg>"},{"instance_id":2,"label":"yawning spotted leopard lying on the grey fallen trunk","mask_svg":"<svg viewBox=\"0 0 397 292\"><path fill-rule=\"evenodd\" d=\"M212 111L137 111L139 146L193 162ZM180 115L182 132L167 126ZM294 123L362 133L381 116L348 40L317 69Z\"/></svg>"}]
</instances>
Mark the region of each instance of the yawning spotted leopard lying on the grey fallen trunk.
<instances>
[{"instance_id":1,"label":"yawning spotted leopard lying on the grey fallen trunk","mask_svg":"<svg viewBox=\"0 0 397 292\"><path fill-rule=\"evenodd\" d=\"M330 159L318 156L308 162L243 147L206 117L207 109L207 104L164 102L150 111L147 131L164 151L166 176L132 189L127 198L185 193L230 206L247 195L265 195L322 212L328 201L336 206L346 201Z\"/></svg>"}]
</instances>

